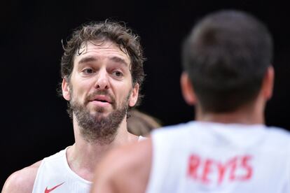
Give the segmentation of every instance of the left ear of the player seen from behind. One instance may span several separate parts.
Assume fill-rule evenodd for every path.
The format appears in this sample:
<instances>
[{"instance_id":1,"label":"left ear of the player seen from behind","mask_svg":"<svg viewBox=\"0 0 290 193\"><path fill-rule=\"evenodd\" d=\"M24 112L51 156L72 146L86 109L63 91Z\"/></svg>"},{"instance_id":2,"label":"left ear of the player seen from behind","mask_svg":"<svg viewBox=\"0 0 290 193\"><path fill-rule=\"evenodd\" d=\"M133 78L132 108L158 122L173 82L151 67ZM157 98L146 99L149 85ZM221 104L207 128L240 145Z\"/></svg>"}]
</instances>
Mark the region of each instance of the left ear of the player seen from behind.
<instances>
[{"instance_id":1,"label":"left ear of the player seen from behind","mask_svg":"<svg viewBox=\"0 0 290 193\"><path fill-rule=\"evenodd\" d=\"M188 105L193 106L196 103L195 92L193 90L193 85L188 77L188 73L183 72L180 78L181 92L184 96L184 100Z\"/></svg>"}]
</instances>

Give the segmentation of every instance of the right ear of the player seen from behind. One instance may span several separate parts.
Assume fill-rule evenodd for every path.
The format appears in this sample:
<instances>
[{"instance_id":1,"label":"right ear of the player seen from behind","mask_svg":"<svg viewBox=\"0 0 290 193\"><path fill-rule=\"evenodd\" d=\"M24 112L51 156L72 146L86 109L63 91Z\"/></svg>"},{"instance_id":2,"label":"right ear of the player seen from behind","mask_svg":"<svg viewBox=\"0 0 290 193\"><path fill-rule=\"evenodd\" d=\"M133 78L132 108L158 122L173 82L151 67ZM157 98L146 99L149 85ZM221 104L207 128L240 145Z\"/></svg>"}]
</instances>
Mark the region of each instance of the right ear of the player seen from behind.
<instances>
[{"instance_id":1,"label":"right ear of the player seen from behind","mask_svg":"<svg viewBox=\"0 0 290 193\"><path fill-rule=\"evenodd\" d=\"M269 66L263 78L263 96L266 100L271 99L274 87L275 71L273 66Z\"/></svg>"}]
</instances>

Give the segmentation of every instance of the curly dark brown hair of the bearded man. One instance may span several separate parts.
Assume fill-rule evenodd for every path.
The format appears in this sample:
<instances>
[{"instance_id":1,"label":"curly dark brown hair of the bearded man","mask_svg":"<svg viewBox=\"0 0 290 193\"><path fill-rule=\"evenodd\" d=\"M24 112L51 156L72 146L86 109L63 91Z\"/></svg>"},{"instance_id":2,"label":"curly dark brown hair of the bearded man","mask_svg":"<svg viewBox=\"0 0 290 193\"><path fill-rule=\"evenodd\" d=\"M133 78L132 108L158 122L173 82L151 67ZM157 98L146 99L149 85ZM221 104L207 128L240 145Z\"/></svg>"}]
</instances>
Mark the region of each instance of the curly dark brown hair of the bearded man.
<instances>
[{"instance_id":1,"label":"curly dark brown hair of the bearded man","mask_svg":"<svg viewBox=\"0 0 290 193\"><path fill-rule=\"evenodd\" d=\"M62 78L70 80L71 72L74 69L74 57L78 54L83 43L88 41L111 41L118 45L120 50L130 57L130 71L132 75L132 85L139 84L139 91L144 81L144 55L139 36L132 33L132 29L125 27L123 22L106 20L104 22L89 22L78 27L71 34L71 38L63 45L64 54L60 63ZM59 90L62 94L61 90ZM139 104L141 94L137 104Z\"/></svg>"}]
</instances>

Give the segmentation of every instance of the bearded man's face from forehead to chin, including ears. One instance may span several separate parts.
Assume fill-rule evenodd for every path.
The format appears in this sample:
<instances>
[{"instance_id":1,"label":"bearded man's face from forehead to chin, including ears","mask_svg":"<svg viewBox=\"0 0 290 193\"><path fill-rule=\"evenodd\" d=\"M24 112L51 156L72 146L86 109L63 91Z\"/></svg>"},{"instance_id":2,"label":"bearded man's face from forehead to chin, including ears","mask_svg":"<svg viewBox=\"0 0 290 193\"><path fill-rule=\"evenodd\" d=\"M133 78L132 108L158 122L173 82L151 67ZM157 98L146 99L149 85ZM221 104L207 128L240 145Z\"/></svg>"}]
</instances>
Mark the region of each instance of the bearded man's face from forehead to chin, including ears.
<instances>
[{"instance_id":1,"label":"bearded man's face from forehead to chin, including ears","mask_svg":"<svg viewBox=\"0 0 290 193\"><path fill-rule=\"evenodd\" d=\"M110 41L88 42L78 52L70 82L63 83L65 99L96 118L135 105L139 85L132 87L130 57L125 52Z\"/></svg>"}]
</instances>

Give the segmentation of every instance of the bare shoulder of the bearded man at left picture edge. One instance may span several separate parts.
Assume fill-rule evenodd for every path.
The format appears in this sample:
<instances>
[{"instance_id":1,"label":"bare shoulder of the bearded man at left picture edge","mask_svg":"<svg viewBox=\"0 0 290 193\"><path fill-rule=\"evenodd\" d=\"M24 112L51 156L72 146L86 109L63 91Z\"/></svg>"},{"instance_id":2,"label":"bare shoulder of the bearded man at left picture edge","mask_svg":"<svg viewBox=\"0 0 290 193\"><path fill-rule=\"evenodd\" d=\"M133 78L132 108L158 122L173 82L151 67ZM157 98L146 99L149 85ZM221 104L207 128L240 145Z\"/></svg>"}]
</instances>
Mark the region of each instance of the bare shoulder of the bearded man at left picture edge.
<instances>
[{"instance_id":1,"label":"bare shoulder of the bearded man at left picture edge","mask_svg":"<svg viewBox=\"0 0 290 193\"><path fill-rule=\"evenodd\" d=\"M33 190L34 180L41 161L32 164L20 171L15 171L6 180L2 193L31 193Z\"/></svg>"}]
</instances>

